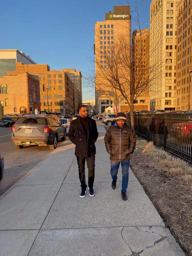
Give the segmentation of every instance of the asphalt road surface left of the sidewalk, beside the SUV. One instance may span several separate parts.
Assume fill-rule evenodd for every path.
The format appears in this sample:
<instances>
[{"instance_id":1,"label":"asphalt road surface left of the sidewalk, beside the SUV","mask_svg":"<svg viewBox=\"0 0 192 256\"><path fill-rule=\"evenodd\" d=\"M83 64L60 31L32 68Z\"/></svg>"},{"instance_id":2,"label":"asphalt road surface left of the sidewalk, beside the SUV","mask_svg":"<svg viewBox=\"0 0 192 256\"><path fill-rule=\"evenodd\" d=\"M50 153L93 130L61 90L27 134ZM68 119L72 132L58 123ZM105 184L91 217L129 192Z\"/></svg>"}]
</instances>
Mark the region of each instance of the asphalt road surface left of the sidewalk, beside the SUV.
<instances>
[{"instance_id":1,"label":"asphalt road surface left of the sidewalk, beside the SUV","mask_svg":"<svg viewBox=\"0 0 192 256\"><path fill-rule=\"evenodd\" d=\"M62 142L58 142L57 146ZM11 142L11 128L0 127L0 153L5 159L4 178L0 185L0 196L52 150L47 147L28 146L17 149Z\"/></svg>"}]
</instances>

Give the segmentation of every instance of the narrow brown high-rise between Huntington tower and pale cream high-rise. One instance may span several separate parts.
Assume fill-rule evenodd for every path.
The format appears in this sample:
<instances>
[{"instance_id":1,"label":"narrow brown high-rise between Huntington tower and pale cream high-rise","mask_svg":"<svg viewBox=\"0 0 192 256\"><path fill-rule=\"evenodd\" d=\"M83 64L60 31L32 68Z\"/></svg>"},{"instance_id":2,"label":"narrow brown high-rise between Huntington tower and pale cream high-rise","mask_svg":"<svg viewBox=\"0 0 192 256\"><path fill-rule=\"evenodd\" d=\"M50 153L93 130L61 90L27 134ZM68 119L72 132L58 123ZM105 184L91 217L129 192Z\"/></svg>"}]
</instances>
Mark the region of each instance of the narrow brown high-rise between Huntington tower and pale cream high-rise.
<instances>
[{"instance_id":1,"label":"narrow brown high-rise between Huntington tower and pale cream high-rise","mask_svg":"<svg viewBox=\"0 0 192 256\"><path fill-rule=\"evenodd\" d=\"M140 87L139 97L134 101L134 111L150 110L150 88L145 84L150 76L150 30L134 30L132 36L135 61L135 88ZM125 112L124 109L122 109Z\"/></svg>"}]
</instances>

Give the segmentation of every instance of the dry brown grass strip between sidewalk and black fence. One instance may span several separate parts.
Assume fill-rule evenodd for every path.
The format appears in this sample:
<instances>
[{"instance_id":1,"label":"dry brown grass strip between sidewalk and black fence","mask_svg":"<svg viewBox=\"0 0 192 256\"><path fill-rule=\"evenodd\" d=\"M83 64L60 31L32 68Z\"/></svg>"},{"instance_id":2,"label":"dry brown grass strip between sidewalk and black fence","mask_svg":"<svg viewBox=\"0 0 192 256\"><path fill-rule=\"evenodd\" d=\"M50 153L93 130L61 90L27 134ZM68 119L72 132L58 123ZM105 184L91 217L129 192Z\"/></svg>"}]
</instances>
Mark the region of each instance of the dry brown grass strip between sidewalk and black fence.
<instances>
[{"instance_id":1,"label":"dry brown grass strip between sidewalk and black fence","mask_svg":"<svg viewBox=\"0 0 192 256\"><path fill-rule=\"evenodd\" d=\"M137 140L131 168L187 256L192 256L192 168L162 148Z\"/></svg>"}]
</instances>

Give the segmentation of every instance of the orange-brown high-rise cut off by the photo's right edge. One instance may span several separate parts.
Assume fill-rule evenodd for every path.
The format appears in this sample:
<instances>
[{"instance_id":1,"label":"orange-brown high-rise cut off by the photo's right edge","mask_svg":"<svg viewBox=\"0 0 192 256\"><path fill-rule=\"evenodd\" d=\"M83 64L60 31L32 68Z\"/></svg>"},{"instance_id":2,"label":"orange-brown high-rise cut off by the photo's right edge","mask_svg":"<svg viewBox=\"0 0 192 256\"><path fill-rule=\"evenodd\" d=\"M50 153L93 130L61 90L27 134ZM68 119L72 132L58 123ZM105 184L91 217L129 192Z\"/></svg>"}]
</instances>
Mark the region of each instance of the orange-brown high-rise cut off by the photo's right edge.
<instances>
[{"instance_id":1,"label":"orange-brown high-rise cut off by the photo's right edge","mask_svg":"<svg viewBox=\"0 0 192 256\"><path fill-rule=\"evenodd\" d=\"M191 1L180 1L177 16L176 110L192 110L191 90Z\"/></svg>"}]
</instances>

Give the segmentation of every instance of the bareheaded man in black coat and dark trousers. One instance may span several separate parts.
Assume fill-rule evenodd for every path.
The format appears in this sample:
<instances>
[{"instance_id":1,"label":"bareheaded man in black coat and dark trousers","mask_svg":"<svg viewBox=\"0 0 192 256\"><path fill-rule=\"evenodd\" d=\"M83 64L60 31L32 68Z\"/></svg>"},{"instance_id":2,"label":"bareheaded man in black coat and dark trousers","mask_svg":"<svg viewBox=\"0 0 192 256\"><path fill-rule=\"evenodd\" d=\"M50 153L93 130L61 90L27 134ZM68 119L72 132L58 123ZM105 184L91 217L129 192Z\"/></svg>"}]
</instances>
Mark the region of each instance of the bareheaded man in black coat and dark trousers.
<instances>
[{"instance_id":1,"label":"bareheaded man in black coat and dark trousers","mask_svg":"<svg viewBox=\"0 0 192 256\"><path fill-rule=\"evenodd\" d=\"M77 157L79 179L81 182L80 198L86 195L86 177L84 176L84 165L88 165L88 186L90 197L94 196L93 183L95 177L95 142L98 138L95 120L88 117L86 105L79 106L79 115L71 121L68 137L76 145L75 156Z\"/></svg>"}]
</instances>

